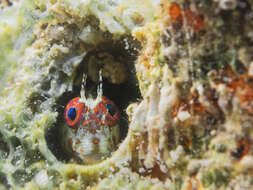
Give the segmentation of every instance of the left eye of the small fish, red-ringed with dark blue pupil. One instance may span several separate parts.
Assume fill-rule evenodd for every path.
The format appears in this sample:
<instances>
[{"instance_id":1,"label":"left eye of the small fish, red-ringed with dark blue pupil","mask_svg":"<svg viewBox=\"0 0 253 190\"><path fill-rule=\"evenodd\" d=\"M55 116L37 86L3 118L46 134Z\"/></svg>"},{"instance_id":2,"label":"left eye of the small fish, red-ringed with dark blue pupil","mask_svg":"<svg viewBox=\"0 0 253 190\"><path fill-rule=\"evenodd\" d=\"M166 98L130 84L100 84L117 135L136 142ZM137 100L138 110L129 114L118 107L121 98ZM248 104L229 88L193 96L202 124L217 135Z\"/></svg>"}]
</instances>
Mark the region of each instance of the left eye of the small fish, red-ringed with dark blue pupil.
<instances>
[{"instance_id":1,"label":"left eye of the small fish, red-ringed with dark blue pupil","mask_svg":"<svg viewBox=\"0 0 253 190\"><path fill-rule=\"evenodd\" d=\"M65 120L70 127L74 127L82 118L85 105L79 100L80 97L72 99L65 108Z\"/></svg>"}]
</instances>

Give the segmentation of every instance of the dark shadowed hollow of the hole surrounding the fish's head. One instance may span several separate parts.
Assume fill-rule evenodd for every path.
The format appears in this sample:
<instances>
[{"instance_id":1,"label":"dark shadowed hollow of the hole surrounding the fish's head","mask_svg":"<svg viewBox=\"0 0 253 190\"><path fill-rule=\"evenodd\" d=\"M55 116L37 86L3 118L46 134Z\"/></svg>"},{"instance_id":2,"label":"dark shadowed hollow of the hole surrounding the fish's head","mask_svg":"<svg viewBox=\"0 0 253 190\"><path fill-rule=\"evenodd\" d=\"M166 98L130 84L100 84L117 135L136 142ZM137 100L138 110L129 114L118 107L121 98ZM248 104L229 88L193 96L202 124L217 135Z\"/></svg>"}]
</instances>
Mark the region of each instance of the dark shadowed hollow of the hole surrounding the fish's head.
<instances>
[{"instance_id":1,"label":"dark shadowed hollow of the hole surrounding the fish's head","mask_svg":"<svg viewBox=\"0 0 253 190\"><path fill-rule=\"evenodd\" d=\"M128 42L128 48L125 48L125 43ZM89 52L79 67L75 72L75 79L73 82L73 91L65 92L57 101L55 109L58 111L59 116L57 122L52 128L47 132L46 139L49 149L56 156L56 158L63 162L68 162L71 159L64 147L61 145L60 130L64 127L64 109L67 103L77 96L80 96L81 90L81 80L83 74L87 71L84 69L84 64L90 56L96 56L98 52L106 52L113 57L121 56L124 60L124 65L126 67L127 79L122 84L112 84L107 79L103 78L103 95L112 100L120 111L120 142L124 140L128 132L128 117L126 114L126 108L129 104L137 102L141 98L141 93L139 91L138 82L136 78L134 62L138 56L138 51L140 50L140 44L138 41L132 39L131 37L124 37L117 41L110 41L101 44L94 51ZM98 87L97 82L93 82L89 77L86 80L85 90L91 90L96 92ZM96 96L96 94L95 94Z\"/></svg>"}]
</instances>

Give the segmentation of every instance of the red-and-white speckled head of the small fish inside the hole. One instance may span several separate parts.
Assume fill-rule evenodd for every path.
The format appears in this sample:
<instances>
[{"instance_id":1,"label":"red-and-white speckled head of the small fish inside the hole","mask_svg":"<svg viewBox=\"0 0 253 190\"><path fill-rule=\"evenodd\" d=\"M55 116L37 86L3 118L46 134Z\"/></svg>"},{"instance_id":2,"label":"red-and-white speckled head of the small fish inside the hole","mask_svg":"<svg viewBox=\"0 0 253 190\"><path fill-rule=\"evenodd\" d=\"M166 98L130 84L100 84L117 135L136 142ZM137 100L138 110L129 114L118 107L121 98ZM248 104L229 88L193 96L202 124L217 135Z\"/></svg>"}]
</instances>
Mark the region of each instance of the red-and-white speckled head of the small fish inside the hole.
<instances>
[{"instance_id":1,"label":"red-and-white speckled head of the small fish inside the hole","mask_svg":"<svg viewBox=\"0 0 253 190\"><path fill-rule=\"evenodd\" d=\"M84 163L110 156L119 141L119 110L105 96L76 97L65 107L65 145Z\"/></svg>"}]
</instances>

